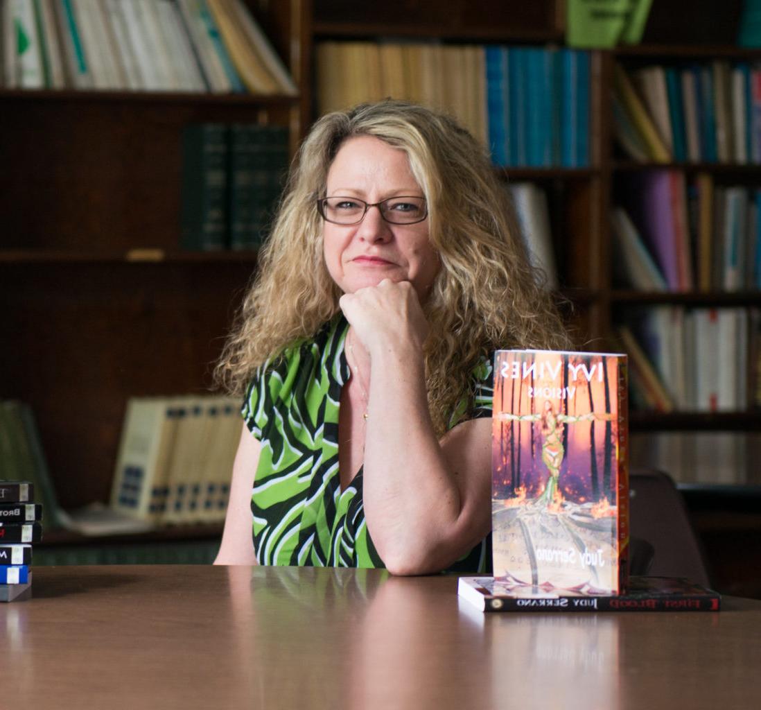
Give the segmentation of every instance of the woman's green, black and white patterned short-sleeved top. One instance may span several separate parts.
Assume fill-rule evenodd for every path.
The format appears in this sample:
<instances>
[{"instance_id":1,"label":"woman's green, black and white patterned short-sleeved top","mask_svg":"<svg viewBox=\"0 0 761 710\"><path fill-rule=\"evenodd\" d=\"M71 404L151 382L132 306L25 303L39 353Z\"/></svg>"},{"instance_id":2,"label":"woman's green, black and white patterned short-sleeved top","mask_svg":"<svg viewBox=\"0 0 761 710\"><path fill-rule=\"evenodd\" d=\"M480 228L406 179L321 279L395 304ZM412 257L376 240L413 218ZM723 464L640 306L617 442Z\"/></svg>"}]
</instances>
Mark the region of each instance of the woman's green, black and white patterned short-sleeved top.
<instances>
[{"instance_id":1,"label":"woman's green, black and white patterned short-sleeved top","mask_svg":"<svg viewBox=\"0 0 761 710\"><path fill-rule=\"evenodd\" d=\"M244 420L262 443L251 510L261 565L384 567L362 502L362 470L342 491L338 466L341 388L349 380L339 315L314 339L286 350L256 372L244 400ZM474 371L473 418L492 415L492 365ZM461 419L461 415L460 415ZM451 426L457 424L453 416ZM451 571L489 572L486 540Z\"/></svg>"}]
</instances>

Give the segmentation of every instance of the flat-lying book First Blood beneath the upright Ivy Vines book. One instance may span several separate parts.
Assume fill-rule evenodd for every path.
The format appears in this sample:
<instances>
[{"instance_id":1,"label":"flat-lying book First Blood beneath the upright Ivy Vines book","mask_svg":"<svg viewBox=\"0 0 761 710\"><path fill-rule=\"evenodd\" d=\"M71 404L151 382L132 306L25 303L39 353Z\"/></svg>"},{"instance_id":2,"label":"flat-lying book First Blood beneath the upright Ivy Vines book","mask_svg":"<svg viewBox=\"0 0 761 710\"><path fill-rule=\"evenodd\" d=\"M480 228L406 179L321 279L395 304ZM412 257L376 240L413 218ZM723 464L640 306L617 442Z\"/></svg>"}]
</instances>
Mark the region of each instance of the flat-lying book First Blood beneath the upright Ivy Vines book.
<instances>
[{"instance_id":1,"label":"flat-lying book First Blood beneath the upright Ivy Vines book","mask_svg":"<svg viewBox=\"0 0 761 710\"><path fill-rule=\"evenodd\" d=\"M721 595L684 578L631 577L626 594L587 595L460 577L457 594L484 612L718 611Z\"/></svg>"}]
</instances>

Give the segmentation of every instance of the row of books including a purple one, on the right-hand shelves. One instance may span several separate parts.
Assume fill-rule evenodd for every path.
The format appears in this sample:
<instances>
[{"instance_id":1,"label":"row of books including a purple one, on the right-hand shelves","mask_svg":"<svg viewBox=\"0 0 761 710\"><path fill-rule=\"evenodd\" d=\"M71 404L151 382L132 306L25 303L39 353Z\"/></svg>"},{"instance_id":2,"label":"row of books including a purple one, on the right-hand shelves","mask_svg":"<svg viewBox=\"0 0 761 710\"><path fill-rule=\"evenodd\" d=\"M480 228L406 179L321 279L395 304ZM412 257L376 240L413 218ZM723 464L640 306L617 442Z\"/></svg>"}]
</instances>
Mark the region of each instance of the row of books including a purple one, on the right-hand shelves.
<instances>
[{"instance_id":1,"label":"row of books including a purple one, on the right-hand shelves","mask_svg":"<svg viewBox=\"0 0 761 710\"><path fill-rule=\"evenodd\" d=\"M761 287L761 189L688 180L680 170L620 178L612 212L614 277L643 291Z\"/></svg>"}]
</instances>

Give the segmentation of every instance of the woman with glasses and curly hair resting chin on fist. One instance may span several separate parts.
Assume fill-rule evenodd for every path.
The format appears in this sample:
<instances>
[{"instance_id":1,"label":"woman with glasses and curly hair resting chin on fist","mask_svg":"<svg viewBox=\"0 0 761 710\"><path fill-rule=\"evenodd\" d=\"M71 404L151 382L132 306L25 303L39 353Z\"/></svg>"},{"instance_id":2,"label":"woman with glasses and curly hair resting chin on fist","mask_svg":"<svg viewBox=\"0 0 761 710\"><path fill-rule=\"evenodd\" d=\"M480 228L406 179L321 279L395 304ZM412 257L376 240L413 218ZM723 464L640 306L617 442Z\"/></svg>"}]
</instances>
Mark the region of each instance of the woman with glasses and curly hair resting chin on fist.
<instances>
[{"instance_id":1,"label":"woman with glasses and curly hair resting chin on fist","mask_svg":"<svg viewBox=\"0 0 761 710\"><path fill-rule=\"evenodd\" d=\"M218 365L246 425L216 562L485 570L492 352L566 345L507 191L395 100L297 165Z\"/></svg>"}]
</instances>

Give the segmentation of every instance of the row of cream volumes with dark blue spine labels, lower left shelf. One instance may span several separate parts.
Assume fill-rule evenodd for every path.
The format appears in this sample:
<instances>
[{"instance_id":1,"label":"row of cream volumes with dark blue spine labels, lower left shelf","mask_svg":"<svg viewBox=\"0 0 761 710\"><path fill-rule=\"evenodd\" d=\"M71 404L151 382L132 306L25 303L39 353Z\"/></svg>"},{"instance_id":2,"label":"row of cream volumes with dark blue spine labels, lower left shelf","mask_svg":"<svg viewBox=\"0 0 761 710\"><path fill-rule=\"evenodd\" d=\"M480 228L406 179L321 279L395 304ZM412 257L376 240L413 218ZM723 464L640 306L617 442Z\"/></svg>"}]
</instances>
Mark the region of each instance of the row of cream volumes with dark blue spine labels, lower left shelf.
<instances>
[{"instance_id":1,"label":"row of cream volumes with dark blue spine labels, lower left shelf","mask_svg":"<svg viewBox=\"0 0 761 710\"><path fill-rule=\"evenodd\" d=\"M111 509L152 526L223 521L240 427L228 397L133 397Z\"/></svg>"}]
</instances>

